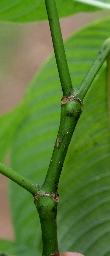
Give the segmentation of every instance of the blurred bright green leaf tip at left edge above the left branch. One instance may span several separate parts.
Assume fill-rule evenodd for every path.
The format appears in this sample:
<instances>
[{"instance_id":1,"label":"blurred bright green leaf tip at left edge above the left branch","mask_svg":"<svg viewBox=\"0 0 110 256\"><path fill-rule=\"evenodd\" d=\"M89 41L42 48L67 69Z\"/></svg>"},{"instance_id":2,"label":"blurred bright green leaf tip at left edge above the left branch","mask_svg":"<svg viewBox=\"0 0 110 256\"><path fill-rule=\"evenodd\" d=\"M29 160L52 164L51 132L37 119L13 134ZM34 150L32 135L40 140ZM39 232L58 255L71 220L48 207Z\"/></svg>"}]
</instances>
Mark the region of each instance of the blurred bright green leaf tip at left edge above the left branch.
<instances>
[{"instance_id":1,"label":"blurred bright green leaf tip at left edge above the left branch","mask_svg":"<svg viewBox=\"0 0 110 256\"><path fill-rule=\"evenodd\" d=\"M22 120L24 112L23 104L19 104L14 110L0 116L0 162L4 161L7 150L12 143L13 133Z\"/></svg>"}]
</instances>

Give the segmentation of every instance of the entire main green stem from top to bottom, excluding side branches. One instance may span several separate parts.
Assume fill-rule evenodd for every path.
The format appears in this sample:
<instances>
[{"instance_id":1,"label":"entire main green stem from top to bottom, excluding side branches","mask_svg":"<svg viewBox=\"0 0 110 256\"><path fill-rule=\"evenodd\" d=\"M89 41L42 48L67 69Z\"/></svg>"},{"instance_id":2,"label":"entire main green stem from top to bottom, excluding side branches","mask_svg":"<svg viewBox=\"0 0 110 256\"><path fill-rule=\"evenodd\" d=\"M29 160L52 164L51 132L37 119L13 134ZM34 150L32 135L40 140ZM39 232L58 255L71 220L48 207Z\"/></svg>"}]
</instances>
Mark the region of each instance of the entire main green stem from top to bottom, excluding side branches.
<instances>
[{"instance_id":1,"label":"entire main green stem from top to bottom, excluding side branches","mask_svg":"<svg viewBox=\"0 0 110 256\"><path fill-rule=\"evenodd\" d=\"M74 89L67 65L56 3L55 0L45 0L45 4L63 96L73 95ZM57 202L54 201L55 198L52 199L52 197L49 196L54 194L58 189L59 177L67 149L82 111L83 104L78 98L74 98L74 100L62 104L58 136L56 138L47 176L41 190L35 195L36 199L34 203L40 217L42 229L43 256L50 256L53 255L53 253L54 256L59 256L56 227ZM49 196L46 196L46 193Z\"/></svg>"}]
</instances>

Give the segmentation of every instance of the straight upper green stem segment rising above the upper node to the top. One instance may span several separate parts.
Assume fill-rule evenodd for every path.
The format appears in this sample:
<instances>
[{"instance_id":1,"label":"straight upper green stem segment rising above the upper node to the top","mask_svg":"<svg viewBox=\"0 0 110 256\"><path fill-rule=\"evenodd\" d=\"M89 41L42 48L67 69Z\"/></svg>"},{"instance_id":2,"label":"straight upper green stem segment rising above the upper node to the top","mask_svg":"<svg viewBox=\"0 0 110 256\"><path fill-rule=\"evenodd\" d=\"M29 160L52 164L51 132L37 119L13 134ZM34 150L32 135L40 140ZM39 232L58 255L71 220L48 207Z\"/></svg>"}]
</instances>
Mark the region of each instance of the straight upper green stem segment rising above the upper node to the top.
<instances>
[{"instance_id":1,"label":"straight upper green stem segment rising above the upper node to the top","mask_svg":"<svg viewBox=\"0 0 110 256\"><path fill-rule=\"evenodd\" d=\"M45 5L47 8L48 21L51 30L52 42L54 46L56 64L58 67L63 96L67 96L67 94L69 94L69 91L71 94L73 94L74 89L72 86L69 68L67 65L65 48L63 45L62 33L60 29L55 0L45 0Z\"/></svg>"}]
</instances>

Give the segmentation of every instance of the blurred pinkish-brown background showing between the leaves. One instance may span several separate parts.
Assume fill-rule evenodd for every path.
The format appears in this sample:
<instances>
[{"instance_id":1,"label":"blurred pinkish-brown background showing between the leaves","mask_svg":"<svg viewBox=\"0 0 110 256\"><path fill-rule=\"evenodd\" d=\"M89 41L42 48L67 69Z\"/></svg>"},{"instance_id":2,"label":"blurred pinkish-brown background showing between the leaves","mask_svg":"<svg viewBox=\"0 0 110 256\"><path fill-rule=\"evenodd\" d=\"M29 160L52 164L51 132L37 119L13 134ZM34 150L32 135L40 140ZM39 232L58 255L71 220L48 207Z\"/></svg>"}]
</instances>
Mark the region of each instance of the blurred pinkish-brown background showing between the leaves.
<instances>
[{"instance_id":1,"label":"blurred pinkish-brown background showing between the leaves","mask_svg":"<svg viewBox=\"0 0 110 256\"><path fill-rule=\"evenodd\" d=\"M107 11L60 19L63 39L87 23L106 17ZM53 51L48 21L31 24L0 23L0 115L22 100L35 72ZM10 165L7 157L6 164ZM0 237L14 238L8 179L0 175Z\"/></svg>"}]
</instances>

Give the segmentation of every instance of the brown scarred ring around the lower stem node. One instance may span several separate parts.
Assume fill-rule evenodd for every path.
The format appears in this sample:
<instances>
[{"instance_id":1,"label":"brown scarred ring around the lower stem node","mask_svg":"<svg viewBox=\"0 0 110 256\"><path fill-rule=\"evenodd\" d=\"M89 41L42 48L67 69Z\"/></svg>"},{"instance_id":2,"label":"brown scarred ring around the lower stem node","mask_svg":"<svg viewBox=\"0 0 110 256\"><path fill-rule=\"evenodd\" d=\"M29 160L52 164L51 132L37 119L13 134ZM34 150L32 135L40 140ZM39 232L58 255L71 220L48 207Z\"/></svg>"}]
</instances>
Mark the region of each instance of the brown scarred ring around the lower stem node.
<instances>
[{"instance_id":1,"label":"brown scarred ring around the lower stem node","mask_svg":"<svg viewBox=\"0 0 110 256\"><path fill-rule=\"evenodd\" d=\"M59 202L59 194L58 194L57 191L52 192L51 195L50 195L49 193L47 193L47 192L34 194L34 195L33 195L34 201L35 201L35 199L38 200L38 198L40 198L40 196L49 196L49 197L51 197L56 203Z\"/></svg>"}]
</instances>

